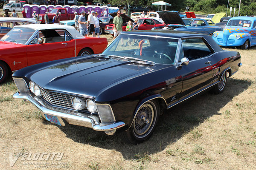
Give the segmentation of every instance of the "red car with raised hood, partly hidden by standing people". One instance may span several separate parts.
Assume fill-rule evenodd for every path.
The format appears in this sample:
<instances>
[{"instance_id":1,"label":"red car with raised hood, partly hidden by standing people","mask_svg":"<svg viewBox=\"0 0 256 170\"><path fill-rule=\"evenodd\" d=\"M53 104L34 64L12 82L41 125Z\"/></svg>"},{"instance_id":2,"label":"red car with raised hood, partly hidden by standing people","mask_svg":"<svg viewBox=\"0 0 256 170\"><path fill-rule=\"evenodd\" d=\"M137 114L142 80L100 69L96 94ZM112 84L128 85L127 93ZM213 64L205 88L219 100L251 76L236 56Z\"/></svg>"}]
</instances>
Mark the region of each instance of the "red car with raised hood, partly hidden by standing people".
<instances>
[{"instance_id":1,"label":"red car with raised hood, partly hidden by standing people","mask_svg":"<svg viewBox=\"0 0 256 170\"><path fill-rule=\"evenodd\" d=\"M115 13L111 13L110 14L112 17L116 16L116 12ZM129 20L131 20L131 22L134 22L134 20L132 20L130 17L128 17L125 14L121 14L122 20L123 20L123 31L126 31L126 26ZM152 18L138 18L138 22L140 23L140 26L138 28L138 30L148 30L148 29L152 29L154 27L158 27L158 26L165 26L163 23L160 23L159 21L152 19ZM113 33L113 24L107 25L105 28L105 32L108 34L114 34Z\"/></svg>"}]
</instances>

